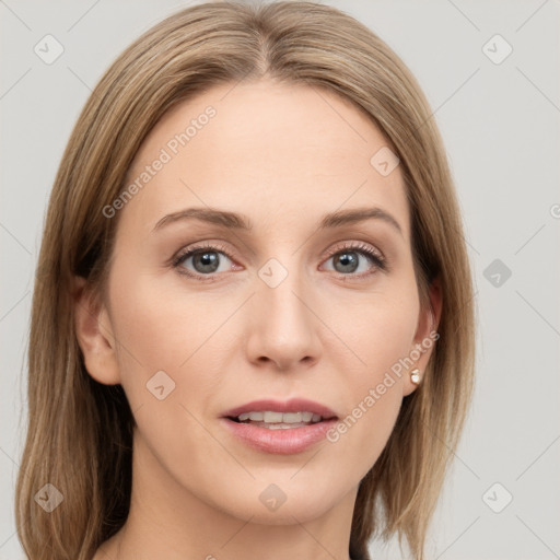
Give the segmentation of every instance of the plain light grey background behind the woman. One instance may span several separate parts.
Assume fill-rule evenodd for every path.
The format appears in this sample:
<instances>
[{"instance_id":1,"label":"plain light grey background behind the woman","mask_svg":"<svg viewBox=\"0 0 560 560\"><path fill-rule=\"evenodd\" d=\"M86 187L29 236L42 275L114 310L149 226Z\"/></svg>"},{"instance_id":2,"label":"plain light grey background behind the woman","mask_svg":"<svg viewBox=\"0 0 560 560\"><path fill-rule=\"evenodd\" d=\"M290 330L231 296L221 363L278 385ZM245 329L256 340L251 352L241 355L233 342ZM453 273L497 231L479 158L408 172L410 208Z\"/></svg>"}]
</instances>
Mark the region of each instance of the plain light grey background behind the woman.
<instances>
[{"instance_id":1,"label":"plain light grey background behind the woman","mask_svg":"<svg viewBox=\"0 0 560 560\"><path fill-rule=\"evenodd\" d=\"M0 0L0 560L23 558L12 510L25 348L40 229L62 150L117 54L187 3L196 2ZM418 78L466 222L479 310L477 392L429 558L560 558L560 2L323 3L369 25ZM47 34L65 49L51 65L34 52ZM483 50L495 34L513 48L501 63ZM504 52L495 39L486 48ZM490 508L502 509L510 494L500 513ZM394 542L371 549L376 559L400 558Z\"/></svg>"}]
</instances>

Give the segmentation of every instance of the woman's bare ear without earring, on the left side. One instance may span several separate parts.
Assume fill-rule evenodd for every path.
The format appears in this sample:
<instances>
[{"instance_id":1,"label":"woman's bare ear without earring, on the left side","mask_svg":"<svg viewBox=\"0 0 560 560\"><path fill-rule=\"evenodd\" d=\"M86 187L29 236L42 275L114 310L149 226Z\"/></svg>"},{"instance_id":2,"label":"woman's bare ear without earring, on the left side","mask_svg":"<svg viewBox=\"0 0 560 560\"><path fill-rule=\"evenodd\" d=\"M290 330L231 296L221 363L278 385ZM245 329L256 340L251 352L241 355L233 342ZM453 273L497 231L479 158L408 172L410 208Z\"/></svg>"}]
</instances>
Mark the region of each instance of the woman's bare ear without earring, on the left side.
<instances>
[{"instance_id":1,"label":"woman's bare ear without earring, on the left side","mask_svg":"<svg viewBox=\"0 0 560 560\"><path fill-rule=\"evenodd\" d=\"M81 277L74 277L72 300L75 336L88 373L105 385L120 383L115 337L105 305L94 298Z\"/></svg>"}]
</instances>

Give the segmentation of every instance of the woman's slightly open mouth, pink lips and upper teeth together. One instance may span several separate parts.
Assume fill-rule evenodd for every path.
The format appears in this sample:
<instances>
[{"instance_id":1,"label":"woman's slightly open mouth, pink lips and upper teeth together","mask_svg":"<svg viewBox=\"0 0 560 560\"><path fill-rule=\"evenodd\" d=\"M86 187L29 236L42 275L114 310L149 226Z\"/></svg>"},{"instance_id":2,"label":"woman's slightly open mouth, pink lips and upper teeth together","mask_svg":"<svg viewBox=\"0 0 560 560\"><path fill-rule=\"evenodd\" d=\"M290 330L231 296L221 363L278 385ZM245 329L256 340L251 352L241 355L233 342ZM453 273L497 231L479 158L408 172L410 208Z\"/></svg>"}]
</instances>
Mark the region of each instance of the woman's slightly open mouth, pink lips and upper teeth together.
<instances>
[{"instance_id":1,"label":"woman's slightly open mouth, pink lips and upper teeth together","mask_svg":"<svg viewBox=\"0 0 560 560\"><path fill-rule=\"evenodd\" d=\"M222 416L237 441L272 454L295 454L325 439L338 416L324 405L306 399L287 402L258 400Z\"/></svg>"}]
</instances>

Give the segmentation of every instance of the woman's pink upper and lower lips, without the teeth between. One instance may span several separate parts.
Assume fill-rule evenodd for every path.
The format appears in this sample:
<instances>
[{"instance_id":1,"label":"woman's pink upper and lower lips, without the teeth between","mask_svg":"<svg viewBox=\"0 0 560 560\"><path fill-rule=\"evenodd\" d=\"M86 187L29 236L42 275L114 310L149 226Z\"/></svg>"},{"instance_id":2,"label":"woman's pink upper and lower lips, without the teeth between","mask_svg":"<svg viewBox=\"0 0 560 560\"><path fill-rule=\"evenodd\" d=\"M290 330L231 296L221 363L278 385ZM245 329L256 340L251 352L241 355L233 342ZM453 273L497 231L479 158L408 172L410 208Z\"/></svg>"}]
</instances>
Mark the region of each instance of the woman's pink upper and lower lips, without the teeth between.
<instances>
[{"instance_id":1,"label":"woman's pink upper and lower lips, without the teeth between","mask_svg":"<svg viewBox=\"0 0 560 560\"><path fill-rule=\"evenodd\" d=\"M313 424L279 430L270 430L233 420L244 412L265 410L272 412L307 411L319 415L323 419L320 422ZM266 453L290 455L301 453L324 440L325 433L337 422L337 416L330 408L307 399L294 398L285 402L262 399L228 410L223 415L222 421L226 429L246 445Z\"/></svg>"}]
</instances>

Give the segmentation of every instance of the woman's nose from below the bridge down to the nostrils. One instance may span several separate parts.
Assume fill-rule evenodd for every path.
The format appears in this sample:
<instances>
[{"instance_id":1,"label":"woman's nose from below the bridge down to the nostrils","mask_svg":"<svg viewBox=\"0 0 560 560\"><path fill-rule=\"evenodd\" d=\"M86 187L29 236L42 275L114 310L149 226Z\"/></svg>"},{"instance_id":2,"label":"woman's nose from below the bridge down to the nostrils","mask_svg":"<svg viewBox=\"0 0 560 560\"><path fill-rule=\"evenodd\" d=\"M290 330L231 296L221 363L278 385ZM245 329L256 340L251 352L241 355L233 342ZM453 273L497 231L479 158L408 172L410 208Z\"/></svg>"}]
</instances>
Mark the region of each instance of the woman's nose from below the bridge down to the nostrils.
<instances>
[{"instance_id":1,"label":"woman's nose from below the bridge down to the nostrils","mask_svg":"<svg viewBox=\"0 0 560 560\"><path fill-rule=\"evenodd\" d=\"M320 355L320 338L311 295L311 287L290 272L279 285L256 278L250 299L246 352L250 363L260 368L291 371L311 366Z\"/></svg>"}]
</instances>

